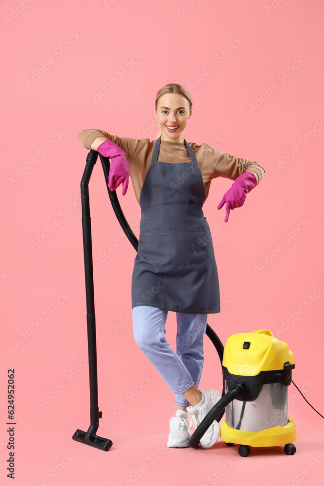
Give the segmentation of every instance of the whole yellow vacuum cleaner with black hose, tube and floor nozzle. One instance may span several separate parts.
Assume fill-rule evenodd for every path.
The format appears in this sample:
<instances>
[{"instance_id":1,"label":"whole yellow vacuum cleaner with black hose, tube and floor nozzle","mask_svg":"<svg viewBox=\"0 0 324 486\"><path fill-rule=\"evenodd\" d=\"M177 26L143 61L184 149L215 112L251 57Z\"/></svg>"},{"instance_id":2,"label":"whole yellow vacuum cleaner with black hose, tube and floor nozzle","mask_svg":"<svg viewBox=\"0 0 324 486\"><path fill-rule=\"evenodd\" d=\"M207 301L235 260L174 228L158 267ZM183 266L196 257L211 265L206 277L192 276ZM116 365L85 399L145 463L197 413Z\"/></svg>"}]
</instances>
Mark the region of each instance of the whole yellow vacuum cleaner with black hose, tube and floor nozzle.
<instances>
[{"instance_id":1,"label":"whole yellow vacuum cleaner with black hose, tube and floor nozzle","mask_svg":"<svg viewBox=\"0 0 324 486\"><path fill-rule=\"evenodd\" d=\"M90 426L86 432L77 429L72 438L86 445L108 451L112 446L112 441L96 434L102 412L98 407L96 322L88 184L98 155L102 162L110 202L120 226L136 251L138 240L120 208L116 191L110 191L108 187L109 157L104 157L91 149L86 157L85 171L81 181ZM287 455L294 454L296 448L292 442L296 440L296 426L289 417L288 386L292 382L291 370L295 367L295 363L287 344L276 339L270 330L263 329L234 334L227 340L225 348L208 324L206 335L215 346L222 364L222 398L191 435L189 446L197 447L213 420L220 422L226 411L226 419L222 421L220 435L228 446L239 445L240 456L248 456L251 452L250 447L281 445L284 445L284 452ZM304 396L303 398L305 399Z\"/></svg>"}]
</instances>

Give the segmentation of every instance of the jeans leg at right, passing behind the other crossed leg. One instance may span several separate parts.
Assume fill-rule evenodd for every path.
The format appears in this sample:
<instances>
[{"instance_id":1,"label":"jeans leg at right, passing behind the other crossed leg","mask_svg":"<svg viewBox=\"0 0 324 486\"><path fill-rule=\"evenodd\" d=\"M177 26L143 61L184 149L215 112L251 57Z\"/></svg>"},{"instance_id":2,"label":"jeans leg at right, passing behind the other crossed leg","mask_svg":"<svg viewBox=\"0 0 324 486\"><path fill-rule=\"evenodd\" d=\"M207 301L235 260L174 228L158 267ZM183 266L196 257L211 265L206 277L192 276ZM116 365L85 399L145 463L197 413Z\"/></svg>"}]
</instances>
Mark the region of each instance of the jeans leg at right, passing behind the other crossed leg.
<instances>
[{"instance_id":1,"label":"jeans leg at right, passing behind the other crossed leg","mask_svg":"<svg viewBox=\"0 0 324 486\"><path fill-rule=\"evenodd\" d=\"M207 314L177 312L176 353L188 369L198 388L204 364L204 336ZM176 394L175 404L188 407L190 403L182 394Z\"/></svg>"}]
</instances>

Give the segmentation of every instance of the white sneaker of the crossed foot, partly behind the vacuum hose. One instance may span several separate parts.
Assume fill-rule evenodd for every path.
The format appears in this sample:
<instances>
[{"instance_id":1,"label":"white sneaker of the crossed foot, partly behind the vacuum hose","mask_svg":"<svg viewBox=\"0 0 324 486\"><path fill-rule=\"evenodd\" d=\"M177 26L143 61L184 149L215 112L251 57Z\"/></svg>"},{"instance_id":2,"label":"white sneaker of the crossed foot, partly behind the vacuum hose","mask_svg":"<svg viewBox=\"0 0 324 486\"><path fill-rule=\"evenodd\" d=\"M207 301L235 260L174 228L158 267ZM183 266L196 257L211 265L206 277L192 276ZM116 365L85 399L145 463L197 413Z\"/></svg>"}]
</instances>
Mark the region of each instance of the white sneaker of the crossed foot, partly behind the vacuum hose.
<instances>
[{"instance_id":1,"label":"white sneaker of the crossed foot, partly behind the vacuum hose","mask_svg":"<svg viewBox=\"0 0 324 486\"><path fill-rule=\"evenodd\" d=\"M218 390L199 390L202 394L202 399L194 407L187 407L188 414L191 415L191 421L189 428L192 427L192 420L195 423L195 428L203 421L208 412L213 406L221 399L221 394ZM206 430L205 434L200 439L200 445L204 449L208 449L213 446L218 439L220 433L220 427L216 420Z\"/></svg>"}]
</instances>

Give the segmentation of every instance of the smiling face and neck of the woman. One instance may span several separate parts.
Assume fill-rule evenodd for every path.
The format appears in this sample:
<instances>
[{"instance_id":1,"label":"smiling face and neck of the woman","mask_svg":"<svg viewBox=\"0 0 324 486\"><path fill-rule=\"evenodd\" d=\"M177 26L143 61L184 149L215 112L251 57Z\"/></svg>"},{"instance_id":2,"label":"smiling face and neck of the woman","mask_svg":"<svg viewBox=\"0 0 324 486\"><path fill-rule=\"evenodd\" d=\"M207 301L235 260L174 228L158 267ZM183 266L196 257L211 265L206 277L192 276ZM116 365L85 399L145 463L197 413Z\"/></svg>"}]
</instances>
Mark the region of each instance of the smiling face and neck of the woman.
<instances>
[{"instance_id":1,"label":"smiling face and neck of the woman","mask_svg":"<svg viewBox=\"0 0 324 486\"><path fill-rule=\"evenodd\" d=\"M182 132L191 117L192 108L181 94L165 93L156 106L155 115L162 130L161 140L183 142ZM169 128L175 126L176 128Z\"/></svg>"}]
</instances>

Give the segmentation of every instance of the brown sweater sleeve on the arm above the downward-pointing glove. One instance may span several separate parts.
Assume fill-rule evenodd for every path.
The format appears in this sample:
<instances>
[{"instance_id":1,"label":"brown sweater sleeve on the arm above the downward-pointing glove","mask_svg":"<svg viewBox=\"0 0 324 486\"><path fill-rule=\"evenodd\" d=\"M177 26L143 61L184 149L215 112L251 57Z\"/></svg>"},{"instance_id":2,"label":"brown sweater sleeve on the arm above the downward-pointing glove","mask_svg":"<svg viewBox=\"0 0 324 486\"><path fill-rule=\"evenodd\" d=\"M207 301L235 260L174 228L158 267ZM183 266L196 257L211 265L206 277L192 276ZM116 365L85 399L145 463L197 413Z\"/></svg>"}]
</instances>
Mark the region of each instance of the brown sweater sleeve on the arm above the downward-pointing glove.
<instances>
[{"instance_id":1,"label":"brown sweater sleeve on the arm above the downward-pointing glove","mask_svg":"<svg viewBox=\"0 0 324 486\"><path fill-rule=\"evenodd\" d=\"M220 152L217 149L213 149L214 152L214 177L226 177L228 179L235 180L239 175L244 172L252 172L256 176L257 184L263 179L266 172L252 160L246 158L239 158L234 155Z\"/></svg>"}]
</instances>

